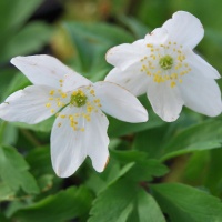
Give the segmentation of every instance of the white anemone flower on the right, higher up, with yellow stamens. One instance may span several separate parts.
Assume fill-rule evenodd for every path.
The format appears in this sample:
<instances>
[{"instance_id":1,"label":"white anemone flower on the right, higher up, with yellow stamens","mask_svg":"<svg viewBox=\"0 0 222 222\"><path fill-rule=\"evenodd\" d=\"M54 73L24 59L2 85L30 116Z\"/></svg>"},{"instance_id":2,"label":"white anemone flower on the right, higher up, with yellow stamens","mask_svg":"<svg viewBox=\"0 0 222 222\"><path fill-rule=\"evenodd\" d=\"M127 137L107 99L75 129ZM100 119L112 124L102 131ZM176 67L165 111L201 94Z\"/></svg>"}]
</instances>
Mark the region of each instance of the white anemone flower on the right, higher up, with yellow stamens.
<instances>
[{"instance_id":1,"label":"white anemone flower on the right, higher up, with yellow stamens","mask_svg":"<svg viewBox=\"0 0 222 222\"><path fill-rule=\"evenodd\" d=\"M147 92L154 112L164 121L179 118L182 105L209 117L222 111L218 71L192 50L203 38L199 19L178 11L161 28L132 44L110 49L107 61L115 68L105 81L134 95Z\"/></svg>"}]
</instances>

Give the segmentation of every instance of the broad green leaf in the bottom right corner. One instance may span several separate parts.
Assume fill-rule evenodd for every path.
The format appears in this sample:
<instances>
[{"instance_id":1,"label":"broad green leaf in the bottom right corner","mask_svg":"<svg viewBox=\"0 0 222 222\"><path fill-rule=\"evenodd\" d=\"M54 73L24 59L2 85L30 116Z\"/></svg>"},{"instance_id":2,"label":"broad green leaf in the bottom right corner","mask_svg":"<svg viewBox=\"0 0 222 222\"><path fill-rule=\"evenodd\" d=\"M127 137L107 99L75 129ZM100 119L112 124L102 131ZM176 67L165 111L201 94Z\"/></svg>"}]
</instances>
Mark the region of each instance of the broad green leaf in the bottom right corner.
<instances>
[{"instance_id":1,"label":"broad green leaf in the bottom right corner","mask_svg":"<svg viewBox=\"0 0 222 222\"><path fill-rule=\"evenodd\" d=\"M151 185L151 191L172 222L220 222L222 203L194 188L169 183Z\"/></svg>"}]
</instances>

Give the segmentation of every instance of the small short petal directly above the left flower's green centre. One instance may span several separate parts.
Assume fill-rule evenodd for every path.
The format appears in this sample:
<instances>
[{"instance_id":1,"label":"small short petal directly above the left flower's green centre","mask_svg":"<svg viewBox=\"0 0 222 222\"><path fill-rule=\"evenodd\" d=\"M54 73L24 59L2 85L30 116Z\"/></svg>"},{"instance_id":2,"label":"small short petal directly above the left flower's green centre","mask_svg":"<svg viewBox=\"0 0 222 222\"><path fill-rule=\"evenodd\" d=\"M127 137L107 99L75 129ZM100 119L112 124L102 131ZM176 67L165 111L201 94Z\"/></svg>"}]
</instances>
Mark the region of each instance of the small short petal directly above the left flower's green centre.
<instances>
[{"instance_id":1,"label":"small short petal directly above the left flower's green centre","mask_svg":"<svg viewBox=\"0 0 222 222\"><path fill-rule=\"evenodd\" d=\"M79 73L71 72L64 75L62 91L64 92L73 91L77 88L87 87L90 85L91 83L92 82L90 80L83 78Z\"/></svg>"}]
</instances>

